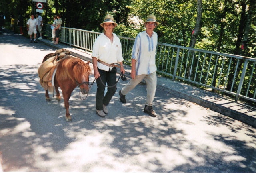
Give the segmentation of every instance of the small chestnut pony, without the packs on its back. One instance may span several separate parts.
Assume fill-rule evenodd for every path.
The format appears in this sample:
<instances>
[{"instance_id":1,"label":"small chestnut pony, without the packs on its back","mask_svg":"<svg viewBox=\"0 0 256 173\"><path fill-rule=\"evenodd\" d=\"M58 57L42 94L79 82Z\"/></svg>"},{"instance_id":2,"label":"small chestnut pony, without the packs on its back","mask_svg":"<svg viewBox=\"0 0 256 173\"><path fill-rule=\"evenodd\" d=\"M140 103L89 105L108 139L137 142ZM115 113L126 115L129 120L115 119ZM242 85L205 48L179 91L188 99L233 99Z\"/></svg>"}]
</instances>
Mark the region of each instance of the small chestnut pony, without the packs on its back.
<instances>
[{"instance_id":1,"label":"small chestnut pony, without the packs on its back","mask_svg":"<svg viewBox=\"0 0 256 173\"><path fill-rule=\"evenodd\" d=\"M44 57L46 61L52 54ZM82 94L89 92L89 75L91 68L90 61L84 63L81 59L72 56L66 56L59 60L54 78L54 88L56 90L56 100L60 101L60 92L58 87L62 90L64 105L66 108L66 121L71 121L69 114L69 102L71 93L78 86ZM48 90L45 91L46 100L50 101Z\"/></svg>"}]
</instances>

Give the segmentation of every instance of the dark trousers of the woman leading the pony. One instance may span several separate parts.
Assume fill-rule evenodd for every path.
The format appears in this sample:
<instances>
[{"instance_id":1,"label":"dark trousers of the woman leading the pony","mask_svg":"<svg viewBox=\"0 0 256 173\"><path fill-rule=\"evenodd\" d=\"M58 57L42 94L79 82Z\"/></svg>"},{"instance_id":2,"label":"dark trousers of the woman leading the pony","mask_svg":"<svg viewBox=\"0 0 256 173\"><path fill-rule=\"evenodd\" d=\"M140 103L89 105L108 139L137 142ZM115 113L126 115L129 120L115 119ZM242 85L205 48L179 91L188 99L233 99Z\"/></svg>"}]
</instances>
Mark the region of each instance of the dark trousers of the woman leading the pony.
<instances>
[{"instance_id":1,"label":"dark trousers of the woman leading the pony","mask_svg":"<svg viewBox=\"0 0 256 173\"><path fill-rule=\"evenodd\" d=\"M112 88L108 88L106 95L104 96L105 93L105 86L106 83L108 86L113 86L116 84L116 67L113 67L109 71L101 70L98 68L98 71L100 73L100 77L96 80L97 82L97 93L96 93L96 109L97 110L103 110L103 104L105 106L108 106L110 100L116 93L116 86ZM102 79L102 82L100 81L100 78Z\"/></svg>"}]
</instances>

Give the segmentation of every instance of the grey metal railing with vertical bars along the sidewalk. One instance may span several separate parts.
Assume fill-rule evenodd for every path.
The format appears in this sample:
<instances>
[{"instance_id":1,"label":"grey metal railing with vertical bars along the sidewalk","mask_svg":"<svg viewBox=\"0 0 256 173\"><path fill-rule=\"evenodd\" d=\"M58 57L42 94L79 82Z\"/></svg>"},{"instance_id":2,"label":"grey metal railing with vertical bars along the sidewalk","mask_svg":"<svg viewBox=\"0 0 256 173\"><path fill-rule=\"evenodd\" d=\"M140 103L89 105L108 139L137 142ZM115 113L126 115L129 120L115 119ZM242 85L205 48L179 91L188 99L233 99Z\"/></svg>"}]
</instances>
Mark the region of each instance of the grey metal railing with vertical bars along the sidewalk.
<instances>
[{"instance_id":1,"label":"grey metal railing with vertical bars along the sidewalk","mask_svg":"<svg viewBox=\"0 0 256 173\"><path fill-rule=\"evenodd\" d=\"M50 25L44 28L47 37L52 37ZM95 39L101 33L82 29L62 27L60 41L70 46L92 51ZM133 38L119 36L123 58L131 61ZM156 50L157 72L212 88L235 96L237 101L244 98L256 102L256 59L193 49L177 45L158 43Z\"/></svg>"}]
</instances>

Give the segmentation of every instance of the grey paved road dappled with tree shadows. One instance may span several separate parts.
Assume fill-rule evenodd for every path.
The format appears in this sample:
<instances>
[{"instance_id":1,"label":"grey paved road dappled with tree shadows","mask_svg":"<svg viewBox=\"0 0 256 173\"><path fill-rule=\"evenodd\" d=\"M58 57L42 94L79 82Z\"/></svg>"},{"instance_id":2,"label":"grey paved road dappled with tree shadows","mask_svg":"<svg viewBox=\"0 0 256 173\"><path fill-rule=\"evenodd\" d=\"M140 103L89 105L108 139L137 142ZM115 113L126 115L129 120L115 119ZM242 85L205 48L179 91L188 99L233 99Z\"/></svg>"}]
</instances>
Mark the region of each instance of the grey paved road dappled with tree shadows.
<instances>
[{"instance_id":1,"label":"grey paved road dappled with tree shadows","mask_svg":"<svg viewBox=\"0 0 256 173\"><path fill-rule=\"evenodd\" d=\"M126 104L116 92L106 118L96 115L96 84L83 101L76 88L72 122L66 122L63 100L46 102L38 83L42 58L54 51L20 35L0 35L3 171L256 172L255 128L159 88L156 118L142 112L145 85L128 94Z\"/></svg>"}]
</instances>

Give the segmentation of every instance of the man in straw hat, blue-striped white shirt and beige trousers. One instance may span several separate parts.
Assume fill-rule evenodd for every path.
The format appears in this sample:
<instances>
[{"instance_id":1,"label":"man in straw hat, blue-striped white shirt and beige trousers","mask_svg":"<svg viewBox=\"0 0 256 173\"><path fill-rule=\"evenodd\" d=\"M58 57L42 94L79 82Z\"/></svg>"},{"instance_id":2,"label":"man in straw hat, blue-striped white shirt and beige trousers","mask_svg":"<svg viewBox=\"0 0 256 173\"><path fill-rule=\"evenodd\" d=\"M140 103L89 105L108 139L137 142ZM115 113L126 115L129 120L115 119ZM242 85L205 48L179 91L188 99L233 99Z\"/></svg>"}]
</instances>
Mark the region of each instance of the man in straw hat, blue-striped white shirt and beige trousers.
<instances>
[{"instance_id":1,"label":"man in straw hat, blue-striped white shirt and beige trousers","mask_svg":"<svg viewBox=\"0 0 256 173\"><path fill-rule=\"evenodd\" d=\"M140 32L132 48L132 79L119 91L120 101L126 103L126 94L138 85L143 79L146 81L147 98L144 111L156 117L153 110L153 100L156 93L156 46L157 34L153 31L159 23L156 16L148 15L144 26L146 31Z\"/></svg>"}]
</instances>

